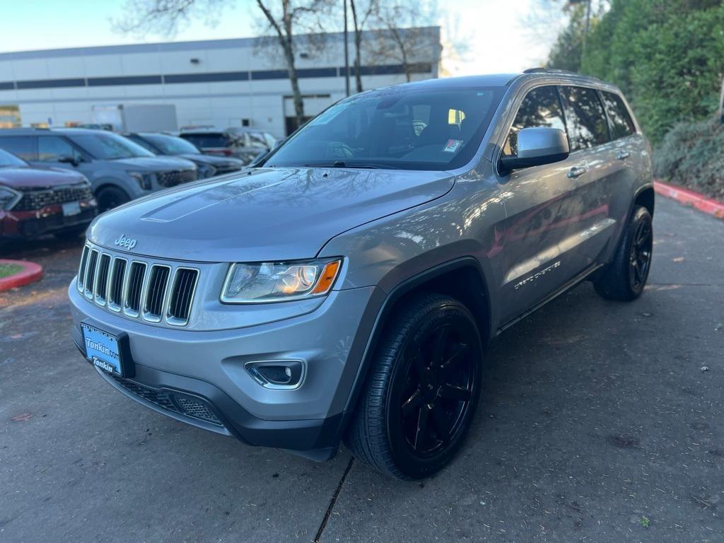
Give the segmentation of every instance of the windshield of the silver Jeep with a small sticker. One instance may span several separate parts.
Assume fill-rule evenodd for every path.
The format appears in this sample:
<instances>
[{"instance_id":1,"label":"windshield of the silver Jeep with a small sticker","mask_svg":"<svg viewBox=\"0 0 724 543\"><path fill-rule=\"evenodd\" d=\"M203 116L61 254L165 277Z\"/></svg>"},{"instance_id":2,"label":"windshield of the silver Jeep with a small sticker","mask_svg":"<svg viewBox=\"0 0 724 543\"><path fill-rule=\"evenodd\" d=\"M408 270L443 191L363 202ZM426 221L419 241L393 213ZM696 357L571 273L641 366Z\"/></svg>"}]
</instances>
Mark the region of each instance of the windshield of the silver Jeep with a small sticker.
<instances>
[{"instance_id":1,"label":"windshield of the silver Jeep with a small sticker","mask_svg":"<svg viewBox=\"0 0 724 543\"><path fill-rule=\"evenodd\" d=\"M346 98L264 165L454 169L478 150L501 88L388 88Z\"/></svg>"}]
</instances>

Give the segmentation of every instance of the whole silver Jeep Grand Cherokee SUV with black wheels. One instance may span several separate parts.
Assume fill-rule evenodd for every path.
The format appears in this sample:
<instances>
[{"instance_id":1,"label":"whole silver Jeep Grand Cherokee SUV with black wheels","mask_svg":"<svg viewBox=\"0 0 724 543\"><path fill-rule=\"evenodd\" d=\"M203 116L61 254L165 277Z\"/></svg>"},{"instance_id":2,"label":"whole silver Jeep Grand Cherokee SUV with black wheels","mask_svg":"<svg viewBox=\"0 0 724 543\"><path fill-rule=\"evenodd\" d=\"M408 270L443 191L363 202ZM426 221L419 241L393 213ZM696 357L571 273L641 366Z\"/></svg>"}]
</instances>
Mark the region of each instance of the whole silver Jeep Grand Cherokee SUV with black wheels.
<instances>
[{"instance_id":1,"label":"whole silver Jeep Grand Cherokee SUV with black wheels","mask_svg":"<svg viewBox=\"0 0 724 543\"><path fill-rule=\"evenodd\" d=\"M371 90L256 167L88 230L72 336L120 392L315 460L450 461L484 345L584 279L641 295L650 148L612 85L531 70Z\"/></svg>"}]
</instances>

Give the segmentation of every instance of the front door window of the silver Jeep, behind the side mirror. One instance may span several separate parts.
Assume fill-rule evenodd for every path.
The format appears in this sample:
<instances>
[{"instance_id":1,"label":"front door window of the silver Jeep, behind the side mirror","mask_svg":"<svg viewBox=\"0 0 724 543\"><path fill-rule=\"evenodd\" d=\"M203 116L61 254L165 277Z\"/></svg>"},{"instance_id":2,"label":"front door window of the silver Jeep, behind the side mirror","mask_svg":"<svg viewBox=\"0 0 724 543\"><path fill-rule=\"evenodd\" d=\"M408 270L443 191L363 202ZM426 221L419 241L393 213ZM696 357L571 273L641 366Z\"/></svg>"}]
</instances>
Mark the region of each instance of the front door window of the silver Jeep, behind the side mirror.
<instances>
[{"instance_id":1,"label":"front door window of the silver Jeep, behind the side mirror","mask_svg":"<svg viewBox=\"0 0 724 543\"><path fill-rule=\"evenodd\" d=\"M523 128L551 127L565 130L563 111L560 109L558 91L554 86L539 87L531 90L518 108L508 139L503 146L505 156L518 153L518 132Z\"/></svg>"}]
</instances>

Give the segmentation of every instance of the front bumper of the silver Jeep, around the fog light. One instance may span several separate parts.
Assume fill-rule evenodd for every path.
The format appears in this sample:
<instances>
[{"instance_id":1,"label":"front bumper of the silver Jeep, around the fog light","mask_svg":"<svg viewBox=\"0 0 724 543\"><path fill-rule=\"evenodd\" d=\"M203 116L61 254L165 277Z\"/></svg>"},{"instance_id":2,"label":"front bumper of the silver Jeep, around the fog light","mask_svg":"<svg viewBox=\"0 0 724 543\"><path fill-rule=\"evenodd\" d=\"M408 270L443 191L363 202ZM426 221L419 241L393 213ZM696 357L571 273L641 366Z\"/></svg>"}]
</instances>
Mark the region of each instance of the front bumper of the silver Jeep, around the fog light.
<instances>
[{"instance_id":1,"label":"front bumper of the silver Jeep, around the fog light","mask_svg":"<svg viewBox=\"0 0 724 543\"><path fill-rule=\"evenodd\" d=\"M188 424L315 460L331 458L339 446L349 415L345 407L384 300L376 287L334 291L306 315L200 332L109 313L83 298L75 282L69 295L72 335L81 353L81 321L128 334L132 379L99 371L117 390ZM301 386L270 390L244 368L248 361L274 360L303 360Z\"/></svg>"}]
</instances>

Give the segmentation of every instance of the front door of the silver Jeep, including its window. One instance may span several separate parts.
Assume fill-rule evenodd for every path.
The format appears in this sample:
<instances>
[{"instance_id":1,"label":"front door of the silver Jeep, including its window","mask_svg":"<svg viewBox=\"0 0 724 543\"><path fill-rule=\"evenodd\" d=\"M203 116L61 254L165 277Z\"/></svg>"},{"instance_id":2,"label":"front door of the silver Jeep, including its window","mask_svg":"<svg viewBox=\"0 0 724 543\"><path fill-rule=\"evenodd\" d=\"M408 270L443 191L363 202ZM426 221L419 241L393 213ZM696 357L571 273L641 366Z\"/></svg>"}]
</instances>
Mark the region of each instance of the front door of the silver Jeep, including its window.
<instances>
[{"instance_id":1,"label":"front door of the silver Jeep, including its window","mask_svg":"<svg viewBox=\"0 0 724 543\"><path fill-rule=\"evenodd\" d=\"M521 102L502 154L517 152L518 131L547 126L565 130L556 85L534 88ZM499 179L508 214L501 322L512 321L576 277L585 261L575 251L584 207L578 187L587 172L586 156L573 152L555 164L518 169Z\"/></svg>"}]
</instances>

